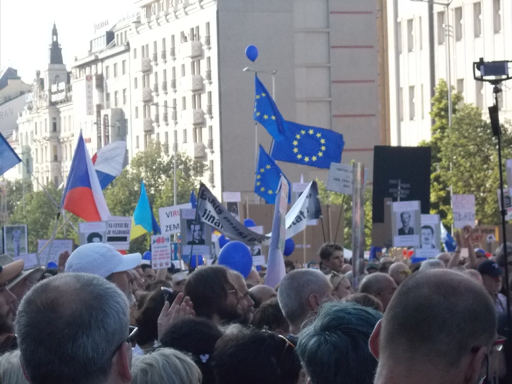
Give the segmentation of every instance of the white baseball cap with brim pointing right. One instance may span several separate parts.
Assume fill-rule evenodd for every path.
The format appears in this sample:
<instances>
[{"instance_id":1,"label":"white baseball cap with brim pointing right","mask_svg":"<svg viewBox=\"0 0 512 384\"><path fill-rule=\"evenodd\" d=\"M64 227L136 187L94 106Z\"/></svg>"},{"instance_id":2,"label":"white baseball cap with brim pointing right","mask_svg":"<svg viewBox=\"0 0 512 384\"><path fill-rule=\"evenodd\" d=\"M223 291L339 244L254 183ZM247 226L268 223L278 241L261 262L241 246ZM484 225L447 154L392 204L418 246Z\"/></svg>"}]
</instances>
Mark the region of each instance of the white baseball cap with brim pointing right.
<instances>
[{"instance_id":1,"label":"white baseball cap with brim pointing right","mask_svg":"<svg viewBox=\"0 0 512 384\"><path fill-rule=\"evenodd\" d=\"M106 278L111 273L135 268L141 260L140 253L121 254L112 245L89 243L71 253L65 272L92 273Z\"/></svg>"}]
</instances>

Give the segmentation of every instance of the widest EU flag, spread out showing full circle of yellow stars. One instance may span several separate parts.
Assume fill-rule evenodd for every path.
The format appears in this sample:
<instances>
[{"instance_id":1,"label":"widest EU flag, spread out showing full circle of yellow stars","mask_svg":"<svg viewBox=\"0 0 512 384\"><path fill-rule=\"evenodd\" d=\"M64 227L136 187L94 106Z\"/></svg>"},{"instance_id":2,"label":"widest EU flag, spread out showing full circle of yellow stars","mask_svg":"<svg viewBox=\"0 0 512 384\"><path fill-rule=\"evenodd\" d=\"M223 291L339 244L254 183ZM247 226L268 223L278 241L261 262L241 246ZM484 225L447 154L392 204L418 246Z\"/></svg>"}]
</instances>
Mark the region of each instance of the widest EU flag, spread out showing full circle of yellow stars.
<instances>
[{"instance_id":1,"label":"widest EU flag, spread out showing full circle of yellow stars","mask_svg":"<svg viewBox=\"0 0 512 384\"><path fill-rule=\"evenodd\" d=\"M329 168L331 162L340 163L345 141L335 131L286 121L286 139L275 141L270 156L316 168Z\"/></svg>"}]
</instances>

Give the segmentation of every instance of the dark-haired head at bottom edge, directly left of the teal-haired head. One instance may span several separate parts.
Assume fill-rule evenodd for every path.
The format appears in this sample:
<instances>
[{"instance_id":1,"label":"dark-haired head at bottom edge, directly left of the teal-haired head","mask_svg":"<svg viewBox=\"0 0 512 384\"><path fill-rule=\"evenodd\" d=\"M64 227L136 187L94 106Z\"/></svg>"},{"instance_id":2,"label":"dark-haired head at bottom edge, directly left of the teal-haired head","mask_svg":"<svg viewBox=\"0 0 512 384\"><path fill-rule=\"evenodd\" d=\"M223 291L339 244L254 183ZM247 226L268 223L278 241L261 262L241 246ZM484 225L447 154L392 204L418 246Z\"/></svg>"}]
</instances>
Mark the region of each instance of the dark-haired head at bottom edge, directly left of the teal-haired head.
<instances>
[{"instance_id":1,"label":"dark-haired head at bottom edge, directly left of the teal-haired head","mask_svg":"<svg viewBox=\"0 0 512 384\"><path fill-rule=\"evenodd\" d=\"M232 340L223 345L221 338L212 357L218 383L296 384L301 363L286 338L252 329Z\"/></svg>"}]
</instances>

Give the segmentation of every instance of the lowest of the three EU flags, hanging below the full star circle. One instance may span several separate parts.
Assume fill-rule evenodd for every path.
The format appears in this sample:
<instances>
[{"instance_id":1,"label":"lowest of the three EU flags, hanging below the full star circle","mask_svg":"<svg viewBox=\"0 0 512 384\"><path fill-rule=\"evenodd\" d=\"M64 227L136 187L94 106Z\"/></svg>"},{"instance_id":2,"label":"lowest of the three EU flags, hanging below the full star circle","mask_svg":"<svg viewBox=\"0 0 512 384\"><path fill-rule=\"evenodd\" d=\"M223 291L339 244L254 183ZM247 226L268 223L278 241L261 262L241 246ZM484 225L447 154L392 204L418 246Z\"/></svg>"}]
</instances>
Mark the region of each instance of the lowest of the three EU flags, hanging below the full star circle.
<instances>
[{"instance_id":1,"label":"lowest of the three EU flags, hanging below the full star circle","mask_svg":"<svg viewBox=\"0 0 512 384\"><path fill-rule=\"evenodd\" d=\"M281 168L268 156L260 145L258 156L258 168L256 169L256 180L254 181L254 193L261 196L267 203L275 204L275 195L278 193L279 180L284 176ZM288 203L291 200L291 185L288 181Z\"/></svg>"}]
</instances>

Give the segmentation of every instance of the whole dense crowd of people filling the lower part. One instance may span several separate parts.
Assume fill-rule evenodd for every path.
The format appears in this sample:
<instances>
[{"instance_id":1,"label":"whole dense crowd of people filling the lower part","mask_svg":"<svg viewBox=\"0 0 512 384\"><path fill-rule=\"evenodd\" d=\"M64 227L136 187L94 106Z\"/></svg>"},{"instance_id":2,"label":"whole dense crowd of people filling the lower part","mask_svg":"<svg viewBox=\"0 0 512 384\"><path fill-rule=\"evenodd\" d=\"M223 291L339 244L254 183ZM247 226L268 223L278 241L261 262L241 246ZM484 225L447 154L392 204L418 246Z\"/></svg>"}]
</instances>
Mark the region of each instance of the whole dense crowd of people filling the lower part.
<instances>
[{"instance_id":1,"label":"whole dense crowd of people filling the lower part","mask_svg":"<svg viewBox=\"0 0 512 384\"><path fill-rule=\"evenodd\" d=\"M277 287L256 269L153 270L102 243L55 269L3 255L1 382L510 383L512 244L488 258L457 241L419 265L384 254L358 279L343 247L324 244L318 268L286 260Z\"/></svg>"}]
</instances>

